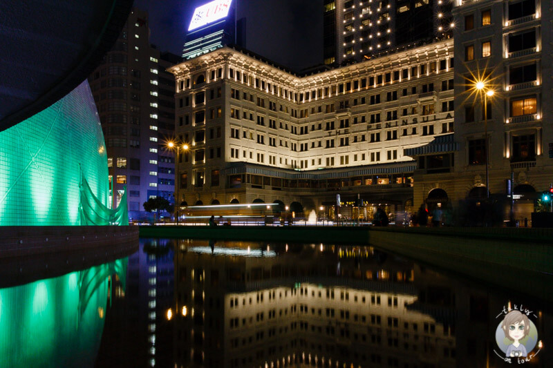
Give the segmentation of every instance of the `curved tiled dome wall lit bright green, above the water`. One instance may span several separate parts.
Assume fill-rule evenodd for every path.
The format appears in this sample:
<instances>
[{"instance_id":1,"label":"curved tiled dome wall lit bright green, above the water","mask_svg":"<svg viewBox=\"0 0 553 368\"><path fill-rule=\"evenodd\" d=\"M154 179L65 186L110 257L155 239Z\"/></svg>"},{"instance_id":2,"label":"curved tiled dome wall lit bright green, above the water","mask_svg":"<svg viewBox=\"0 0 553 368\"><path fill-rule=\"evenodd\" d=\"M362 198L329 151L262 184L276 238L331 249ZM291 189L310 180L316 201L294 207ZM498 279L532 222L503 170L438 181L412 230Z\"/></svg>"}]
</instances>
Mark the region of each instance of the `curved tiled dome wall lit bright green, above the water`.
<instances>
[{"instance_id":1,"label":"curved tiled dome wall lit bright green, above the water","mask_svg":"<svg viewBox=\"0 0 553 368\"><path fill-rule=\"evenodd\" d=\"M81 225L82 177L107 206L106 146L87 81L0 132L0 226Z\"/></svg>"}]
</instances>

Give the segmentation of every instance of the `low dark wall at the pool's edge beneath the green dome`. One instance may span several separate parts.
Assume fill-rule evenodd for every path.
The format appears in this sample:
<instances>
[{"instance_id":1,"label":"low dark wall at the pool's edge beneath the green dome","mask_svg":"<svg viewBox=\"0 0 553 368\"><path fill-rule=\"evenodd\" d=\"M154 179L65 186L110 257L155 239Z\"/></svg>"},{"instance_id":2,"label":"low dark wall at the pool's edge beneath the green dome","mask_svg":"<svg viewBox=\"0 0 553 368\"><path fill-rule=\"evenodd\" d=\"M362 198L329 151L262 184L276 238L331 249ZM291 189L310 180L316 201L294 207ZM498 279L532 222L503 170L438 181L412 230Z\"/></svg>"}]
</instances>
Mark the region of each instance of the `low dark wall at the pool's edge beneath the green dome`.
<instances>
[{"instance_id":1,"label":"low dark wall at the pool's edge beneath the green dome","mask_svg":"<svg viewBox=\"0 0 553 368\"><path fill-rule=\"evenodd\" d=\"M0 288L88 269L137 250L135 226L0 226Z\"/></svg>"}]
</instances>

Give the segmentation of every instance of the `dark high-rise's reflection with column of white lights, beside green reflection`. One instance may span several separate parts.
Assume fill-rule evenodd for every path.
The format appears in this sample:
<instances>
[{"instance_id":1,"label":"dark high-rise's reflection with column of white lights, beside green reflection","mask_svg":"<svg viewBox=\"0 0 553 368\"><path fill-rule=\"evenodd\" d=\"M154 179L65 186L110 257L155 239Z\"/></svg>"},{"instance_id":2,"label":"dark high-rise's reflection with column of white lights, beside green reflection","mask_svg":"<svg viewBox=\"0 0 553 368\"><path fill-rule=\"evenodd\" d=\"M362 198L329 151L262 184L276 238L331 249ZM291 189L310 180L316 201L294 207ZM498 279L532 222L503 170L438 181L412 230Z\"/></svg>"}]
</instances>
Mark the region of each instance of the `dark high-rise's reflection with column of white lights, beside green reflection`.
<instances>
[{"instance_id":1,"label":"dark high-rise's reflection with column of white lights, beside green reflection","mask_svg":"<svg viewBox=\"0 0 553 368\"><path fill-rule=\"evenodd\" d=\"M139 251L129 256L126 282L126 291L117 280L113 285L97 367L169 367L172 327L165 312L173 304L171 241L141 239Z\"/></svg>"}]
</instances>

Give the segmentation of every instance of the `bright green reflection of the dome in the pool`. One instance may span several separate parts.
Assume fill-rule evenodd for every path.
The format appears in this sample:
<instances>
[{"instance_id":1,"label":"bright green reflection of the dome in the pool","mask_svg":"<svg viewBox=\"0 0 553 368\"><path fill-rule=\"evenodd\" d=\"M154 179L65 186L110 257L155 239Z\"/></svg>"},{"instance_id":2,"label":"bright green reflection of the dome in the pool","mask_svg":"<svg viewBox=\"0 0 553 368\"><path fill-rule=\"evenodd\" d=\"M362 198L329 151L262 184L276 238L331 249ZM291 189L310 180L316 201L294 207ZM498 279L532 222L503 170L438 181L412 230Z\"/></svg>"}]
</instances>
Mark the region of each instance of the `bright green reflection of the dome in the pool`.
<instances>
[{"instance_id":1,"label":"bright green reflection of the dome in the pool","mask_svg":"<svg viewBox=\"0 0 553 368\"><path fill-rule=\"evenodd\" d=\"M126 262L0 289L0 367L93 367L108 276L124 285Z\"/></svg>"}]
</instances>

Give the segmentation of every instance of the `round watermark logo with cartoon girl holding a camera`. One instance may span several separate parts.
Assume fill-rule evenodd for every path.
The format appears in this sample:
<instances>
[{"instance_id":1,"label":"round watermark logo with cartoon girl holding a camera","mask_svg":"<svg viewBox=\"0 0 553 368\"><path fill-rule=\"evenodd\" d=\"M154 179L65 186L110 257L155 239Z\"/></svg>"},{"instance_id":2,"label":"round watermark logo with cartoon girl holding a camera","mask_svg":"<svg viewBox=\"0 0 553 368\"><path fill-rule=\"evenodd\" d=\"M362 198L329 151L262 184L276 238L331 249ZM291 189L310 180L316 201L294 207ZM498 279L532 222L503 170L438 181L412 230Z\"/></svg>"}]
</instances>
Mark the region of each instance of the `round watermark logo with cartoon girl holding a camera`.
<instances>
[{"instance_id":1,"label":"round watermark logo with cartoon girl holding a camera","mask_svg":"<svg viewBox=\"0 0 553 368\"><path fill-rule=\"evenodd\" d=\"M529 362L538 355L542 342L538 341L538 329L532 321L537 318L534 311L523 304L509 302L504 306L496 316L499 321L496 329L498 349L494 349L496 355L514 364Z\"/></svg>"}]
</instances>

